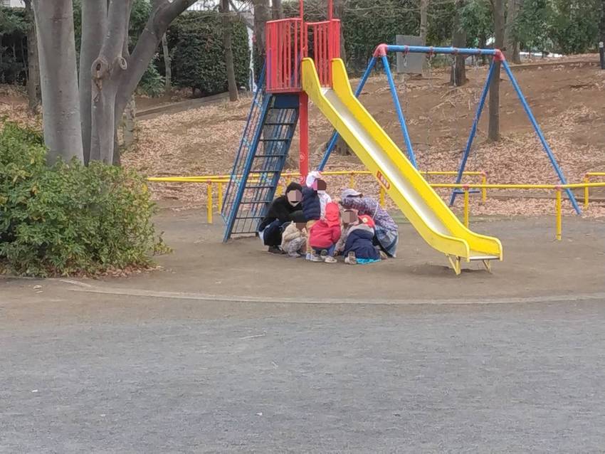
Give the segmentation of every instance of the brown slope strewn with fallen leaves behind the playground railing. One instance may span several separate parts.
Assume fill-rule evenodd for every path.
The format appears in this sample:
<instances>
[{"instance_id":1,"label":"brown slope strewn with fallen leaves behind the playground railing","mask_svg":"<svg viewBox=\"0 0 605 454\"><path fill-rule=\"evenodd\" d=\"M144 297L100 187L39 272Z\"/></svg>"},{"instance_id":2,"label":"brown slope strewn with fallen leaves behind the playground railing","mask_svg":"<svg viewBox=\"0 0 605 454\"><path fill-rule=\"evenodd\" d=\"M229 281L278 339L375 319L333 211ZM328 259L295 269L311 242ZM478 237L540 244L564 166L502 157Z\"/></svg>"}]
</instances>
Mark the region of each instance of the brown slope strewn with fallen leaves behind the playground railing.
<instances>
[{"instance_id":1,"label":"brown slope strewn with fallen leaves behind the playground railing","mask_svg":"<svg viewBox=\"0 0 605 454\"><path fill-rule=\"evenodd\" d=\"M520 65L513 72L522 87L537 120L542 125L559 164L569 182L581 182L586 171L605 171L605 71L594 64L596 56L579 56ZM586 62L589 62L586 63ZM468 130L473 121L475 105L486 76L485 67L470 67L468 83L461 88L448 86L448 70L433 70L425 78L399 79L397 89L408 119L419 167L423 170L455 170L461 157ZM486 140L487 115L480 122L475 149L468 170L485 171L490 183L557 183L547 155L544 153L517 97L505 75L502 76L500 122L503 139L498 144ZM358 80L352 80L357 85ZM361 100L391 137L403 144L399 122L384 75L369 79ZM140 107L153 102L141 100ZM148 174L199 175L226 174L231 171L233 157L246 124L250 98L238 102L218 102L186 112L159 115L139 122L138 149L127 152L122 162ZM0 90L0 115L9 115L24 122L37 122L24 115L20 93ZM310 111L311 164L317 165L332 128L315 107ZM298 154L298 134L291 152ZM332 156L327 170L363 169L354 156ZM327 178L329 192L340 193L348 185L347 176ZM452 178L431 177L433 182L451 182ZM477 177L464 181L478 183ZM376 195L378 186L371 177L359 178L356 186L367 194ZM189 206L206 204L205 185L154 184L154 197L159 200L187 201ZM448 191L438 191L448 198ZM585 216L605 216L605 203L598 203L605 191L592 192L597 203L591 204ZM515 198L500 199L500 191L490 191L488 204L472 199L475 214L540 216L552 213L548 199L519 199L528 193L516 192ZM510 194L507 194L510 195ZM540 193L530 196L553 196ZM387 204L392 208L390 201ZM564 203L564 212L572 214L571 204Z\"/></svg>"}]
</instances>

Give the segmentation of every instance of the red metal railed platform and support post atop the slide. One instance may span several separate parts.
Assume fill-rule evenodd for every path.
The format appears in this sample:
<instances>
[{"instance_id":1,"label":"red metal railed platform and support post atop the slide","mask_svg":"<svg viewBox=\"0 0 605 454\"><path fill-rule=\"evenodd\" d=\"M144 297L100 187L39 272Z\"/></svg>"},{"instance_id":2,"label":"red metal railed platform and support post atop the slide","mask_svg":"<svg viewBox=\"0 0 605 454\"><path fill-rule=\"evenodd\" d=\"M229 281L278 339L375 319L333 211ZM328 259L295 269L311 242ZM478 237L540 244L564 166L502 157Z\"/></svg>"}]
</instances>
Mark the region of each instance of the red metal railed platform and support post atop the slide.
<instances>
[{"instance_id":1,"label":"red metal railed platform and support post atop the slide","mask_svg":"<svg viewBox=\"0 0 605 454\"><path fill-rule=\"evenodd\" d=\"M266 87L269 93L298 93L299 168L301 178L309 171L309 100L300 83L300 62L310 53L323 87L332 86L333 58L340 58L340 20L333 17L332 0L327 5L327 20L305 22L303 0L299 17L268 21L265 27L267 59Z\"/></svg>"}]
</instances>

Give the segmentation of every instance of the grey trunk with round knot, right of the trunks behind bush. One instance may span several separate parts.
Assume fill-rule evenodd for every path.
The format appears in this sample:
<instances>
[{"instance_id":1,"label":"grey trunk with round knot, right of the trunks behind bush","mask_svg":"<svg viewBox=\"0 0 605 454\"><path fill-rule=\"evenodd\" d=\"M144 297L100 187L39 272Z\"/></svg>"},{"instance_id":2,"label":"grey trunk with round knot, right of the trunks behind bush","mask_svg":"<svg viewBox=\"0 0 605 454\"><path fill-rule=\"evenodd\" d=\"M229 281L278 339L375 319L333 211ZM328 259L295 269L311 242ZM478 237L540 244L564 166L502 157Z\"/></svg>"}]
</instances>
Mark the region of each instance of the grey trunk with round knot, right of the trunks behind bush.
<instances>
[{"instance_id":1,"label":"grey trunk with round knot, right of the trunks behind bush","mask_svg":"<svg viewBox=\"0 0 605 454\"><path fill-rule=\"evenodd\" d=\"M110 1L107 33L99 56L92 65L90 160L102 161L105 164L113 163L115 128L121 117L121 112L120 117L116 117L115 100L120 79L128 68L126 54L131 6L132 0Z\"/></svg>"}]
</instances>

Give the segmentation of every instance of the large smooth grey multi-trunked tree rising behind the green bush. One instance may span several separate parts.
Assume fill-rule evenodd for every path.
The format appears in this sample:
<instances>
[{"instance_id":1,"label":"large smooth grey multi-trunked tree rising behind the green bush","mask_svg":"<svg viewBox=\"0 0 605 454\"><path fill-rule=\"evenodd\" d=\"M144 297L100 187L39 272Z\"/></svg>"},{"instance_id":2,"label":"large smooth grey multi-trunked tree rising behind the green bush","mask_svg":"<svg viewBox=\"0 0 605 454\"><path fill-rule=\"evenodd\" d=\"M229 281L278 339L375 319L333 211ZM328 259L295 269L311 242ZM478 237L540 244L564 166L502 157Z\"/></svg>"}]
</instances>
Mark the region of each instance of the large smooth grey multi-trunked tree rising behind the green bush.
<instances>
[{"instance_id":1,"label":"large smooth grey multi-trunked tree rising behind the green bush","mask_svg":"<svg viewBox=\"0 0 605 454\"><path fill-rule=\"evenodd\" d=\"M114 162L116 130L122 113L169 24L194 0L144 2L149 6L149 14L131 55L130 16L133 4L138 3L135 0L84 2L80 46L80 88L83 90L78 91L72 1L33 0L44 138L51 162L58 157L78 157L86 162L83 137L88 148L89 131L88 159Z\"/></svg>"}]
</instances>

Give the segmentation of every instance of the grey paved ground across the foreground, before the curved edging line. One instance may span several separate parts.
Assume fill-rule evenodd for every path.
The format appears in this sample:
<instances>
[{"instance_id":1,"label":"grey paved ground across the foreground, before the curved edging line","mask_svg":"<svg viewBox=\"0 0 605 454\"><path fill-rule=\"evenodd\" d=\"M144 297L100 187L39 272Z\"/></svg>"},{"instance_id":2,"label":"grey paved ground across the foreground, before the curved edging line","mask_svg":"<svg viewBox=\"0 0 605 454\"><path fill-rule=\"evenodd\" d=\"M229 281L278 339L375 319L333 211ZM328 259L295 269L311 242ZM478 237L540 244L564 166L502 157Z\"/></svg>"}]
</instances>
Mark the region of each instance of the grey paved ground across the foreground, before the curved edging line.
<instances>
[{"instance_id":1,"label":"grey paved ground across the foreground, before the curved edging line","mask_svg":"<svg viewBox=\"0 0 605 454\"><path fill-rule=\"evenodd\" d=\"M605 450L605 301L73 298L0 301L1 453Z\"/></svg>"}]
</instances>

